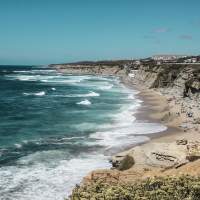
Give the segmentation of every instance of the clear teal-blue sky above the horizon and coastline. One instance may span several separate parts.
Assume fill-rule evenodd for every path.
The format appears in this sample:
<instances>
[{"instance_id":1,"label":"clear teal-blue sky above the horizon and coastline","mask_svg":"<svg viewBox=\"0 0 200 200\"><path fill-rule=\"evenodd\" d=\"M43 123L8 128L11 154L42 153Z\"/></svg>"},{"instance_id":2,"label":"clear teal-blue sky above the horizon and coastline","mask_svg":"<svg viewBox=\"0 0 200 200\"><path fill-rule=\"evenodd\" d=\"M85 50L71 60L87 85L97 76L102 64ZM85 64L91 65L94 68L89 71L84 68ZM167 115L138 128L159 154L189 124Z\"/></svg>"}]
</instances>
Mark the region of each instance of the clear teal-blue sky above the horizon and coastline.
<instances>
[{"instance_id":1,"label":"clear teal-blue sky above the horizon and coastline","mask_svg":"<svg viewBox=\"0 0 200 200\"><path fill-rule=\"evenodd\" d=\"M200 54L200 0L0 0L0 64Z\"/></svg>"}]
</instances>

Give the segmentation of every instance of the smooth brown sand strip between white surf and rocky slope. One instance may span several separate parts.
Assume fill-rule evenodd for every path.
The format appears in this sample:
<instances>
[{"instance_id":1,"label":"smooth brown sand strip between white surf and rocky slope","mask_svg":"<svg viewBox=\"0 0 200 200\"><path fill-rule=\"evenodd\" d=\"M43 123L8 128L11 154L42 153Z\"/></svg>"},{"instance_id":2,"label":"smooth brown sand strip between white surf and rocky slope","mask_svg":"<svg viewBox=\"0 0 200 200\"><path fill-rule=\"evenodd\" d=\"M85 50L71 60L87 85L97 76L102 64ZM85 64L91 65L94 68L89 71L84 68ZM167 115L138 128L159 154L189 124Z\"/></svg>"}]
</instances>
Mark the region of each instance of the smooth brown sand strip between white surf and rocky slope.
<instances>
[{"instance_id":1,"label":"smooth brown sand strip between white surf and rocky slope","mask_svg":"<svg viewBox=\"0 0 200 200\"><path fill-rule=\"evenodd\" d=\"M135 96L137 99L141 100L141 106L137 109L134 116L136 117L136 121L148 123L159 123L167 127L165 131L151 133L148 135L150 138L149 141L144 143L149 143L154 139L162 138L169 135L179 135L183 133L183 131L178 127L178 125L170 125L164 121L162 121L162 117L165 112L169 112L169 106L167 104L167 98L163 95L158 94L156 91L152 89L138 87L136 85L131 85L130 82L123 82L125 87L138 91L138 94ZM152 115L152 113L154 113ZM142 144L144 144L142 143ZM138 145L142 145L138 144ZM136 146L138 146L136 145ZM133 148L133 147L132 147ZM131 148L129 148L131 149Z\"/></svg>"}]
</instances>

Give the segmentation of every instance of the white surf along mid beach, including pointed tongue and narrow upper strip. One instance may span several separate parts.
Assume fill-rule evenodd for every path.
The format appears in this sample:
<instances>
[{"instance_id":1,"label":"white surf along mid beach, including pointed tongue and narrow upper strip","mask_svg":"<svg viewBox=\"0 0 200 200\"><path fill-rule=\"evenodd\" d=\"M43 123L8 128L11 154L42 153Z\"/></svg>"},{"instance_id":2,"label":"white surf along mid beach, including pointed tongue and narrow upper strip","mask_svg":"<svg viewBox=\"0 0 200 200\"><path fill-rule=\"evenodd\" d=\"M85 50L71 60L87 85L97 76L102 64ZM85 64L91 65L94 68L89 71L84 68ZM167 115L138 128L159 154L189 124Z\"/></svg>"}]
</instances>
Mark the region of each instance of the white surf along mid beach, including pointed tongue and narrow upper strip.
<instances>
[{"instance_id":1,"label":"white surf along mid beach, including pointed tongue and narrow upper strip","mask_svg":"<svg viewBox=\"0 0 200 200\"><path fill-rule=\"evenodd\" d=\"M129 145L147 141L149 134L167 129L157 123L136 122L134 113L137 112L142 101L135 99L134 93L129 94L128 99L133 99L133 103L122 106L119 113L112 116L112 124L105 126L104 131L90 135L90 138L96 139L96 143L105 146L110 153L115 153Z\"/></svg>"}]
</instances>

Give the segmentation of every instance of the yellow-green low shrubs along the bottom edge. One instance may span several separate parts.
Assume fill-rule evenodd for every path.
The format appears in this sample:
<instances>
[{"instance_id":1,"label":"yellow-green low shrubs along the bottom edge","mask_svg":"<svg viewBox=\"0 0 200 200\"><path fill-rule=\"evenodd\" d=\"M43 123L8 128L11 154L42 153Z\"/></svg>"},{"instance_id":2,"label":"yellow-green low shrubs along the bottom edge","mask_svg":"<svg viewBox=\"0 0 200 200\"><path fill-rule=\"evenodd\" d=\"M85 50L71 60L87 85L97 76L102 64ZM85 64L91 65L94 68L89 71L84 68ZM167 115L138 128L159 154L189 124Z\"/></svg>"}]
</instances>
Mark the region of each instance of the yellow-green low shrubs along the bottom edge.
<instances>
[{"instance_id":1,"label":"yellow-green low shrubs along the bottom edge","mask_svg":"<svg viewBox=\"0 0 200 200\"><path fill-rule=\"evenodd\" d=\"M157 177L134 184L77 186L71 200L200 200L200 177Z\"/></svg>"}]
</instances>

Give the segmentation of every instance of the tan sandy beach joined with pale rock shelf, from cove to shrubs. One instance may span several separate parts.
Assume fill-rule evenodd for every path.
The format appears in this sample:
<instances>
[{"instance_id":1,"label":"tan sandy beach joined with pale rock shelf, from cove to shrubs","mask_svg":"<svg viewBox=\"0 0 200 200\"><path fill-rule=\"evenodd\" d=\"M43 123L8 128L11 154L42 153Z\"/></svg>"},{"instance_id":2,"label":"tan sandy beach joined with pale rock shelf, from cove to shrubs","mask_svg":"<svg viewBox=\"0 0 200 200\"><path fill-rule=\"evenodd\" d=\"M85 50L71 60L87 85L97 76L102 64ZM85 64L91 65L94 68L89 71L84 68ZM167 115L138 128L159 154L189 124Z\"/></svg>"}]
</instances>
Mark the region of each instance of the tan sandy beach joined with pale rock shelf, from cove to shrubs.
<instances>
[{"instance_id":1,"label":"tan sandy beach joined with pale rock shelf, from cove to shrubs","mask_svg":"<svg viewBox=\"0 0 200 200\"><path fill-rule=\"evenodd\" d=\"M127 86L130 87L130 83ZM199 144L199 125L191 129L181 126L187 117L185 112L179 112L181 108L180 104L176 103L176 98L165 96L155 89L136 85L131 87L140 91L138 98L143 101L135 115L136 119L162 123L168 128L164 132L152 134L151 140L145 144L139 144L113 156L114 165L120 165L127 155L134 158L134 164L129 169L95 170L83 179L83 183L88 184L102 179L111 183L126 183L153 176L199 175L200 161L196 158L194 162L186 159L187 148Z\"/></svg>"}]
</instances>

